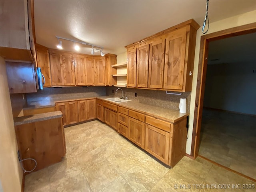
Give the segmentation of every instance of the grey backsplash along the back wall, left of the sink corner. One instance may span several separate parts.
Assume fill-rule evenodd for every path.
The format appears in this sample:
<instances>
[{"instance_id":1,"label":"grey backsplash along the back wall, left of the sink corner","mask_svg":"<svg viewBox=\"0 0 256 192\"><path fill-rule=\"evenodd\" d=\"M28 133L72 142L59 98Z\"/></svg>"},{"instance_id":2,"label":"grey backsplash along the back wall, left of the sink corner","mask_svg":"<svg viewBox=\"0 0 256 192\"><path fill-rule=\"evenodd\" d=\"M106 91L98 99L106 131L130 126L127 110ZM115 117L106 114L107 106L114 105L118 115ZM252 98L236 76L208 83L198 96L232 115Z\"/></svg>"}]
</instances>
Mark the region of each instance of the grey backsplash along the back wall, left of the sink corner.
<instances>
[{"instance_id":1,"label":"grey backsplash along the back wall, left of the sink corner","mask_svg":"<svg viewBox=\"0 0 256 192\"><path fill-rule=\"evenodd\" d=\"M84 98L106 95L105 87L62 87L62 88L44 88L37 93L28 93L27 102L42 100L68 100L69 98Z\"/></svg>"}]
</instances>

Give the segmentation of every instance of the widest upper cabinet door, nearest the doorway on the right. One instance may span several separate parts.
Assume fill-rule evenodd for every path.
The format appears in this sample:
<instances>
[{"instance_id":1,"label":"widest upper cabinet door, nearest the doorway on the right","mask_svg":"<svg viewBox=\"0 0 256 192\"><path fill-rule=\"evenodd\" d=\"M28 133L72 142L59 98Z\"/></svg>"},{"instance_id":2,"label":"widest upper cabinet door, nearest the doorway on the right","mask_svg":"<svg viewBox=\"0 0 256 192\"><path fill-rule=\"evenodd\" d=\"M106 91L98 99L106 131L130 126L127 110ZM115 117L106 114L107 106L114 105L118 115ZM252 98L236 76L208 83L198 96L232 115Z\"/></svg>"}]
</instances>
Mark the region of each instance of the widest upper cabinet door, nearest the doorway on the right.
<instances>
[{"instance_id":1,"label":"widest upper cabinet door, nearest the doorway on the right","mask_svg":"<svg viewBox=\"0 0 256 192\"><path fill-rule=\"evenodd\" d=\"M166 38L164 89L182 90L186 54L186 28L170 33Z\"/></svg>"}]
</instances>

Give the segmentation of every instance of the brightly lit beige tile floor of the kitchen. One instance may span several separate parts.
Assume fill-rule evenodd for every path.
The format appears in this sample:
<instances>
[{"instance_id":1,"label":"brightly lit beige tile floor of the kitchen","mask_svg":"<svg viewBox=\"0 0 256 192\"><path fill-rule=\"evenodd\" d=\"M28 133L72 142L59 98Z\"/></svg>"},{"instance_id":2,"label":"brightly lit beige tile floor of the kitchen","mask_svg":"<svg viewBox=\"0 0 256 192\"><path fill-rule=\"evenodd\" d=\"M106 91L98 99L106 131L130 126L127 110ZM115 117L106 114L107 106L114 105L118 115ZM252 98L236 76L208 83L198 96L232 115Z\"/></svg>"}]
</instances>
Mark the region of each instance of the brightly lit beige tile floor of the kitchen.
<instances>
[{"instance_id":1,"label":"brightly lit beige tile floor of the kitchen","mask_svg":"<svg viewBox=\"0 0 256 192\"><path fill-rule=\"evenodd\" d=\"M202 158L185 156L174 168L166 168L98 120L65 128L65 134L66 157L27 175L25 192L172 192L210 191L199 184L256 186ZM230 186L229 191L246 190Z\"/></svg>"}]
</instances>

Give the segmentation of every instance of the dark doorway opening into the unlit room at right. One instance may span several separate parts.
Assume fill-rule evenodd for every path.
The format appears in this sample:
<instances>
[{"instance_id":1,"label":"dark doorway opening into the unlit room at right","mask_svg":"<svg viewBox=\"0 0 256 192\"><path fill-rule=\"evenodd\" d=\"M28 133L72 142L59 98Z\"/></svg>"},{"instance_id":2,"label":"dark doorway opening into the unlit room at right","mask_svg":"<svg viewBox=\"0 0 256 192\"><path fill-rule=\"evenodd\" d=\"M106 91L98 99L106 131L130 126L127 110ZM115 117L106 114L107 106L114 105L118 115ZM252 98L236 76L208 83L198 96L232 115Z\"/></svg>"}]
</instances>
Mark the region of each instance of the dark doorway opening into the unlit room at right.
<instances>
[{"instance_id":1,"label":"dark doorway opening into the unlit room at right","mask_svg":"<svg viewBox=\"0 0 256 192\"><path fill-rule=\"evenodd\" d=\"M256 33L209 43L199 155L256 179Z\"/></svg>"}]
</instances>

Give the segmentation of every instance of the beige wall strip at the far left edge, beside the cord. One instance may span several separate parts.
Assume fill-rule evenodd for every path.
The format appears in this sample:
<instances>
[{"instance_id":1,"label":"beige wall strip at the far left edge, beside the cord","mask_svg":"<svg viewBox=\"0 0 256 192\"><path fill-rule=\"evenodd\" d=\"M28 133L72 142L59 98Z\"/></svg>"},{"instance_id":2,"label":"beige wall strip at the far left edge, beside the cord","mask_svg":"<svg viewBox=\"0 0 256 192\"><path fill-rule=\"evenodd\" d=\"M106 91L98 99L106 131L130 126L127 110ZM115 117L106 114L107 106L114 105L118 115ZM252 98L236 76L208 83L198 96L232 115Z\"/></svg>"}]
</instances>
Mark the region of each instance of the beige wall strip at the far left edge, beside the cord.
<instances>
[{"instance_id":1,"label":"beige wall strip at the far left edge, beside the cord","mask_svg":"<svg viewBox=\"0 0 256 192\"><path fill-rule=\"evenodd\" d=\"M22 169L17 157L17 142L4 59L0 61L0 178L1 191L20 192Z\"/></svg>"}]
</instances>

